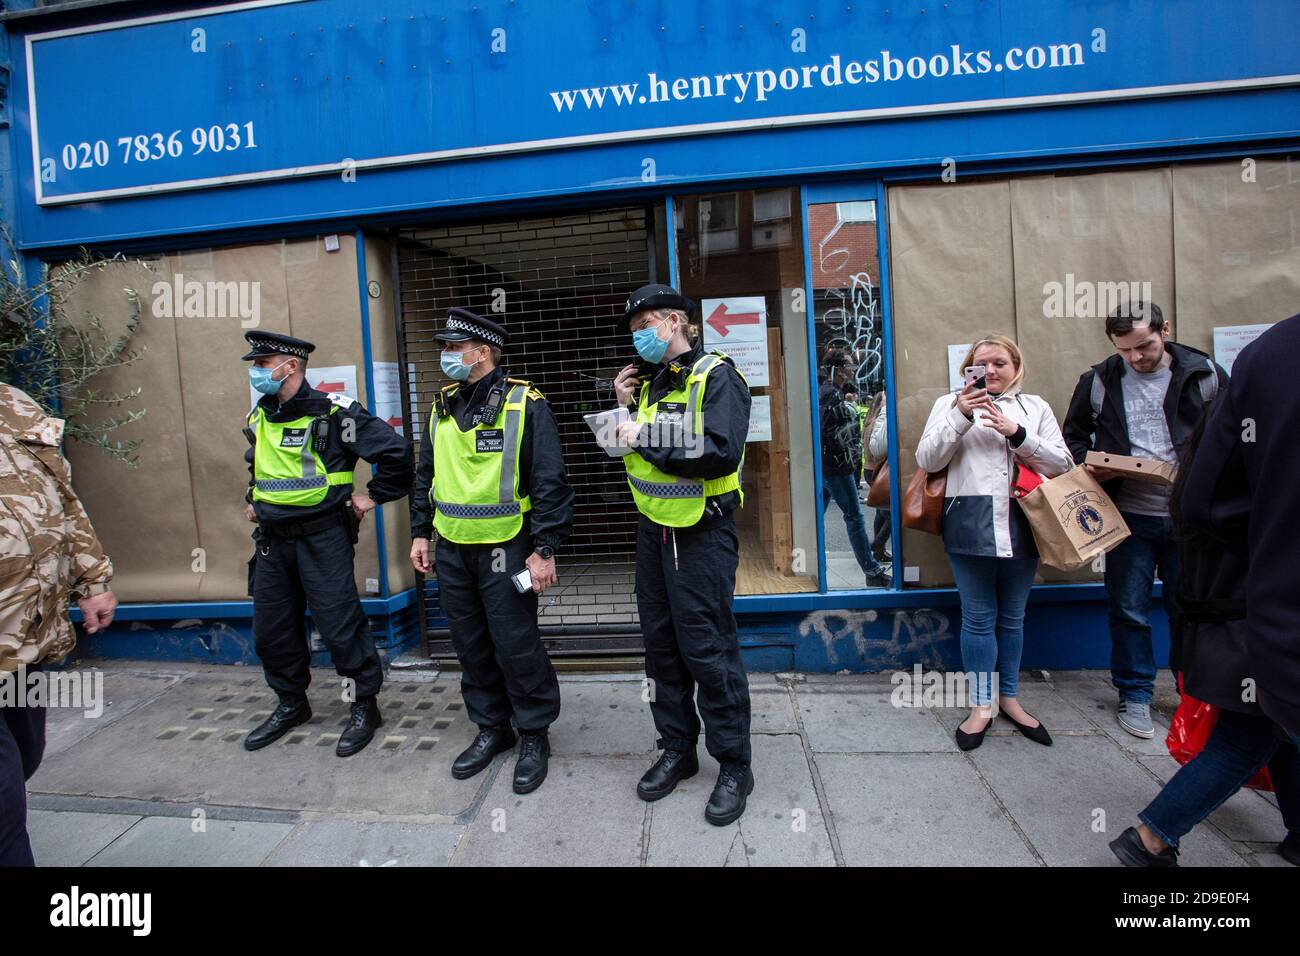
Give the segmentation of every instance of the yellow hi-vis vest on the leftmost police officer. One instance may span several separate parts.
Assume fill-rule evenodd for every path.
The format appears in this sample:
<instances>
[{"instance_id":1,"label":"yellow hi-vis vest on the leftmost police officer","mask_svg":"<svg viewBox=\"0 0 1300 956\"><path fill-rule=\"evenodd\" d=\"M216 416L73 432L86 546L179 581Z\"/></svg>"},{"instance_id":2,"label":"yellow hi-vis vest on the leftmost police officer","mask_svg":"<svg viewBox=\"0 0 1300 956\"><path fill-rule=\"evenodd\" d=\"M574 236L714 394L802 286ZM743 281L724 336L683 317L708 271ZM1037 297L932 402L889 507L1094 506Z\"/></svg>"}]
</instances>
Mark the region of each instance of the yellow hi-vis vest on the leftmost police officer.
<instances>
[{"instance_id":1,"label":"yellow hi-vis vest on the leftmost police officer","mask_svg":"<svg viewBox=\"0 0 1300 956\"><path fill-rule=\"evenodd\" d=\"M329 414L338 411L332 405ZM352 486L352 472L326 471L325 462L312 450L312 421L303 415L291 421L269 421L261 405L248 412L254 429L252 499L269 505L320 505L332 485Z\"/></svg>"}]
</instances>

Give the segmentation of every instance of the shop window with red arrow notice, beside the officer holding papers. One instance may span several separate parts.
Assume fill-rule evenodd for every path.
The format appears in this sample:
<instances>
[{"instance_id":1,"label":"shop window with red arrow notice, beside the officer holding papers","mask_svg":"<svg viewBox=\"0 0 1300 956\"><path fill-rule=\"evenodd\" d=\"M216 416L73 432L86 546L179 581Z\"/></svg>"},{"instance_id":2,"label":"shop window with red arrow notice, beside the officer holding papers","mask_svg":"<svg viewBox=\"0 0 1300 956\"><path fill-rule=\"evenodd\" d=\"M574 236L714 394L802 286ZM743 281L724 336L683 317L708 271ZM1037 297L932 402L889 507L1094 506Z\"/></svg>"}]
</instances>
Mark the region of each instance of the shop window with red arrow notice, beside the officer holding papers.
<instances>
[{"instance_id":1,"label":"shop window with red arrow notice, beside the officer holding papers","mask_svg":"<svg viewBox=\"0 0 1300 956\"><path fill-rule=\"evenodd\" d=\"M684 196L675 208L677 281L701 306L705 347L731 355L753 394L736 593L816 591L803 243L790 215L798 193ZM786 238L755 242L760 220Z\"/></svg>"}]
</instances>

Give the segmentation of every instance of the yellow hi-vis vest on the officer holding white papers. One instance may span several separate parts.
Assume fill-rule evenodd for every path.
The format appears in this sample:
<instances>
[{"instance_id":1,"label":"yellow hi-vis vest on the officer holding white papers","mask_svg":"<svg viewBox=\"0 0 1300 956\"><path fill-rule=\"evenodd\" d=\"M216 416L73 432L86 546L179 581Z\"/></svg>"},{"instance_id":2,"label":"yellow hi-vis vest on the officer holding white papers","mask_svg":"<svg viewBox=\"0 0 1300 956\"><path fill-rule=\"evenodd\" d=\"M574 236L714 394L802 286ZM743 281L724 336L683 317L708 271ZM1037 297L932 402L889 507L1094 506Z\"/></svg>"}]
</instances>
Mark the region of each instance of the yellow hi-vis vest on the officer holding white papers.
<instances>
[{"instance_id":1,"label":"yellow hi-vis vest on the officer holding white papers","mask_svg":"<svg viewBox=\"0 0 1300 956\"><path fill-rule=\"evenodd\" d=\"M708 372L719 362L725 360L728 360L727 356L718 351L701 355L682 386L663 395L654 405L649 402L650 382L644 382L636 420L651 431L680 420L684 431L702 438L705 433L705 386L708 384ZM738 369L737 375L740 375ZM741 375L741 381L744 380L745 376ZM656 419L658 424L655 424ZM658 434L668 434L668 429L664 428ZM684 438L684 441L690 441L690 438ZM741 463L744 464L744 453ZM740 467L720 479L701 481L659 471L634 450L623 457L623 464L628 470L628 485L632 488L632 498L636 501L637 510L656 524L666 524L670 528L689 528L703 516L705 499L724 492L740 492L741 505L745 503L745 493L740 486Z\"/></svg>"}]
</instances>

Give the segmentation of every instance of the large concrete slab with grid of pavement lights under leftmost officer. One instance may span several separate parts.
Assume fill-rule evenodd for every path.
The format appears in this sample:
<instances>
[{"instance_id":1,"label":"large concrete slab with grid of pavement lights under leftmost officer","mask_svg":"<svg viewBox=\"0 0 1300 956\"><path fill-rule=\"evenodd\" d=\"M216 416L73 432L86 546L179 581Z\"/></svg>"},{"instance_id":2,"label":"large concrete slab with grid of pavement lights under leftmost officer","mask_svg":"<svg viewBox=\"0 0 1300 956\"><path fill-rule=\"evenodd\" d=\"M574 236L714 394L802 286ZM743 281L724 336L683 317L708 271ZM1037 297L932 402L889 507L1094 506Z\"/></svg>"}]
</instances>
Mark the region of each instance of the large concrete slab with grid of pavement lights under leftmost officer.
<instances>
[{"instance_id":1,"label":"large concrete slab with grid of pavement lights under leftmost officer","mask_svg":"<svg viewBox=\"0 0 1300 956\"><path fill-rule=\"evenodd\" d=\"M316 674L312 722L261 750L242 741L274 708L260 674L198 672L46 761L32 792L335 813L465 812L478 780L454 780L451 761L473 737L459 684L385 683L385 726L352 757L334 756L347 719L330 672ZM247 672L246 672L247 674ZM415 786L412 786L412 782Z\"/></svg>"}]
</instances>

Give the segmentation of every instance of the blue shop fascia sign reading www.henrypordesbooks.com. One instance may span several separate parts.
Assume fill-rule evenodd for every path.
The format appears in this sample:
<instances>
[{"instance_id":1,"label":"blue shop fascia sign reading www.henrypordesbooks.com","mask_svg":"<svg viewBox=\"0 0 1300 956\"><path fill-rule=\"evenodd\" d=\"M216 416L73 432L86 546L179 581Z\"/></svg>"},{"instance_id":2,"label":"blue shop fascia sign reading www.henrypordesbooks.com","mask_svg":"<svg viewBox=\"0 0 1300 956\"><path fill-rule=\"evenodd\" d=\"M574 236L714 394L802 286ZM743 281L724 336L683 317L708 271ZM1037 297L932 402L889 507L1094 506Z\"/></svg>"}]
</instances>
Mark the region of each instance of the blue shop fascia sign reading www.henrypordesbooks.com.
<instances>
[{"instance_id":1,"label":"blue shop fascia sign reading www.henrypordesbooks.com","mask_svg":"<svg viewBox=\"0 0 1300 956\"><path fill-rule=\"evenodd\" d=\"M653 169L649 143L707 152L774 130L879 124L879 156L904 157L900 121L1294 91L1300 44L1280 40L1297 27L1294 0L257 0L10 25L14 161L36 225L129 198L563 151L597 185L615 172L602 150L642 144ZM616 170L629 186L645 173Z\"/></svg>"}]
</instances>

